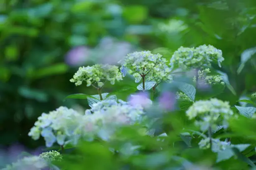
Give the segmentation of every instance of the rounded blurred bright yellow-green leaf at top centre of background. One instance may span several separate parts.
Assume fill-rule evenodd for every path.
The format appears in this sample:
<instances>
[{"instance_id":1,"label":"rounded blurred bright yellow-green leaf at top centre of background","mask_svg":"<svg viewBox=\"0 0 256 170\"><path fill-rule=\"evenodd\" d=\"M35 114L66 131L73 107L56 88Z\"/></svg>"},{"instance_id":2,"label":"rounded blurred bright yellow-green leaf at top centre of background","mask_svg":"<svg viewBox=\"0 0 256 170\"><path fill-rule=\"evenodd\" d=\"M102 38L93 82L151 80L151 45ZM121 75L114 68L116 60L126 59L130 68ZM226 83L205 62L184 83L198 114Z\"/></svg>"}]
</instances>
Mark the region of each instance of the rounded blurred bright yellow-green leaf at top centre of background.
<instances>
[{"instance_id":1,"label":"rounded blurred bright yellow-green leaf at top centre of background","mask_svg":"<svg viewBox=\"0 0 256 170\"><path fill-rule=\"evenodd\" d=\"M132 24L141 23L147 15L148 9L145 6L128 6L123 10L123 17Z\"/></svg>"}]
</instances>

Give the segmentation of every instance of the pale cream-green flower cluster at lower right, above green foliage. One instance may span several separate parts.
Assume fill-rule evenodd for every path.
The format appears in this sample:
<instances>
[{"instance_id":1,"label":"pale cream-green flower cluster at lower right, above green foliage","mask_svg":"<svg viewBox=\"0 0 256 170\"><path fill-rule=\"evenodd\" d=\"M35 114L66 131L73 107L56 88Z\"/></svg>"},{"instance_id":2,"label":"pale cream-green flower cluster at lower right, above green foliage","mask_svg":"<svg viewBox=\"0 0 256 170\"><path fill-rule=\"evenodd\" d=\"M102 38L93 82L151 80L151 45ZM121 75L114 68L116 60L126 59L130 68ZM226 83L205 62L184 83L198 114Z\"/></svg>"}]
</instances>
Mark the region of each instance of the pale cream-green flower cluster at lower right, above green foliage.
<instances>
[{"instance_id":1,"label":"pale cream-green flower cluster at lower right, above green foliage","mask_svg":"<svg viewBox=\"0 0 256 170\"><path fill-rule=\"evenodd\" d=\"M217 120L222 117L222 124L228 125L227 120L233 115L228 102L223 102L216 98L210 100L199 100L189 107L186 111L187 117L193 119L198 117L199 120L195 121L202 131L211 128L213 131L218 129Z\"/></svg>"}]
</instances>

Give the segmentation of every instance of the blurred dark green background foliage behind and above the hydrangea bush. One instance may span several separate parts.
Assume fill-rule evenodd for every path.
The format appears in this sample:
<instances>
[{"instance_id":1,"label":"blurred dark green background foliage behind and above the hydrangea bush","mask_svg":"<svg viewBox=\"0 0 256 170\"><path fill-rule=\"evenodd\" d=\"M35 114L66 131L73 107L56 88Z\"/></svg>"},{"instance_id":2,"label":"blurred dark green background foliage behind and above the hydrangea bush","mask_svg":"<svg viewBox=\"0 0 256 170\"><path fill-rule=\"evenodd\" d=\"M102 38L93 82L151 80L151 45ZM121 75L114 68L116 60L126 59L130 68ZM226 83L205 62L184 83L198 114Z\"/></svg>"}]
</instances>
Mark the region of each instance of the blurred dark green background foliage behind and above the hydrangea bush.
<instances>
[{"instance_id":1,"label":"blurred dark green background foliage behind and above the hydrangea bush","mask_svg":"<svg viewBox=\"0 0 256 170\"><path fill-rule=\"evenodd\" d=\"M223 51L221 71L236 91L234 95L226 88L218 98L234 105L256 91L255 49L251 49L256 47L255 0L2 0L0 144L44 145L27 135L42 112L60 105L88 107L83 100L63 101L73 93L97 93L69 82L77 68L69 67L64 57L79 45L95 47L104 36L167 59L180 46L214 45ZM244 52L248 49L251 52ZM125 79L115 88L127 84L136 87Z\"/></svg>"}]
</instances>

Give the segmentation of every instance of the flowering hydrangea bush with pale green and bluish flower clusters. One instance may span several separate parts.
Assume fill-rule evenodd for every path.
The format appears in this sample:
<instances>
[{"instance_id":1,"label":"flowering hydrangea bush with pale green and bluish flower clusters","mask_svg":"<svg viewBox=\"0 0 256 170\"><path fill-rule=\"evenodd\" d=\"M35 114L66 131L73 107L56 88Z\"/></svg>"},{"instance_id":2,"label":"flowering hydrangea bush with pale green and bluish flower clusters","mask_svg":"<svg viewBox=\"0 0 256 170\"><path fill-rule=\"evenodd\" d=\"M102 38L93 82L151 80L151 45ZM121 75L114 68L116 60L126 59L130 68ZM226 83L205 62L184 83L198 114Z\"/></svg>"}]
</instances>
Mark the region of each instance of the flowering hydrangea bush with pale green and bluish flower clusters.
<instances>
[{"instance_id":1,"label":"flowering hydrangea bush with pale green and bluish flower clusters","mask_svg":"<svg viewBox=\"0 0 256 170\"><path fill-rule=\"evenodd\" d=\"M256 168L252 160L256 95L238 101L249 105L241 107L218 99L221 91L213 91L210 97L207 92L198 93L200 83L212 87L210 90L215 85L225 87L227 78L214 67L214 63L220 67L223 60L221 50L201 45L180 47L169 66L163 55L142 51L128 54L120 68L98 64L79 67L70 81L75 85L86 82L98 95L73 94L67 99L87 99L91 108L83 114L64 106L43 113L28 133L33 140L42 137L46 148L59 145L60 153L53 150L26 157L7 169L32 164L38 170L47 166L61 170L83 166L91 170ZM183 81L179 72L195 74ZM126 75L136 83L142 81L127 101L118 95L127 87L100 92L107 81L114 85L128 79ZM246 132L241 130L244 122L248 124ZM66 152L70 148L75 152Z\"/></svg>"}]
</instances>

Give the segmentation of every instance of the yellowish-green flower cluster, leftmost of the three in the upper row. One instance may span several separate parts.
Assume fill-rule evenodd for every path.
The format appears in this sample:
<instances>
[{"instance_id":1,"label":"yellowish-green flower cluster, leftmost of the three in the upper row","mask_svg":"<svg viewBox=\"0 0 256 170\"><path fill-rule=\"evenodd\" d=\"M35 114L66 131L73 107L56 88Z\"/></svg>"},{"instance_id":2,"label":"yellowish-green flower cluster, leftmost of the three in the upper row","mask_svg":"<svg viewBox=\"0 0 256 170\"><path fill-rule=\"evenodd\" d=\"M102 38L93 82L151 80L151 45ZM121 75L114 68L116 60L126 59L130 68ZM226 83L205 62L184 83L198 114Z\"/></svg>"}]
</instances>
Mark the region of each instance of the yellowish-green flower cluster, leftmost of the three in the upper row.
<instances>
[{"instance_id":1,"label":"yellowish-green flower cluster, leftmost of the three in the upper row","mask_svg":"<svg viewBox=\"0 0 256 170\"><path fill-rule=\"evenodd\" d=\"M107 80L112 85L115 84L115 80L123 80L122 74L117 66L96 64L93 66L79 67L73 78L70 79L70 82L74 82L76 86L82 85L82 82L86 82L87 87L92 85L95 88L101 88Z\"/></svg>"}]
</instances>

